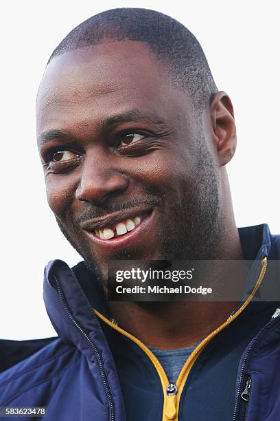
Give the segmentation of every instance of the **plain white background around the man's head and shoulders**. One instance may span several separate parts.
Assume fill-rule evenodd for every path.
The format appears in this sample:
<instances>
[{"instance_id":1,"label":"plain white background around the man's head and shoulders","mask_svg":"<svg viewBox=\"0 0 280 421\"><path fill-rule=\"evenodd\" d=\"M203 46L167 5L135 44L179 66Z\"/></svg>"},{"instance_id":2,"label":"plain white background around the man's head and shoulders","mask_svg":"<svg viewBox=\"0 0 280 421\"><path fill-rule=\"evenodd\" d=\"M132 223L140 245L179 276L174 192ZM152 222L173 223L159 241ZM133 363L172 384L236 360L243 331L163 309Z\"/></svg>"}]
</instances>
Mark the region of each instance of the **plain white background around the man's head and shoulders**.
<instances>
[{"instance_id":1,"label":"plain white background around the man's head and shoulders","mask_svg":"<svg viewBox=\"0 0 280 421\"><path fill-rule=\"evenodd\" d=\"M233 100L238 147L228 165L237 226L279 218L279 10L277 1L10 1L1 11L0 337L54 336L43 303L50 259L80 260L47 207L36 151L35 98L45 64L75 25L102 10L170 14L200 41L218 89ZM4 5L4 6L3 6ZM3 32L3 33L2 33Z\"/></svg>"}]
</instances>

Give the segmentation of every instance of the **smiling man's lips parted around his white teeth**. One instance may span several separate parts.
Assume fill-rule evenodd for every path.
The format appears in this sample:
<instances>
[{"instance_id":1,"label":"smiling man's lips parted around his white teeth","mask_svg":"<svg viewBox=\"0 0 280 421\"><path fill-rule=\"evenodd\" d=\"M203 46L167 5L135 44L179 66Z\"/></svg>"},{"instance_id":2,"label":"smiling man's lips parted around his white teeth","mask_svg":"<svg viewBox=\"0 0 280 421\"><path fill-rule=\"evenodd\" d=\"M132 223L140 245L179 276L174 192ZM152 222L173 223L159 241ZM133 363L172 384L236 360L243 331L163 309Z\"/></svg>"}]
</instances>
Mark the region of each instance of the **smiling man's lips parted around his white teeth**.
<instances>
[{"instance_id":1,"label":"smiling man's lips parted around his white teeth","mask_svg":"<svg viewBox=\"0 0 280 421\"><path fill-rule=\"evenodd\" d=\"M113 217L114 216L114 217ZM110 218L106 218L106 224L108 224L107 221L110 221L110 226L104 226L104 222L100 224L97 224L96 221L93 223L91 222L90 226L91 229L85 229L86 235L88 235L91 238L91 241L94 241L96 246L98 248L102 248L103 250L120 250L125 249L127 247L133 246L135 242L138 239L141 239L143 233L145 230L147 230L148 226L152 223L152 210L151 209L133 209L133 212L131 210L128 210L126 213L124 211L121 212L121 215L116 214L110 215ZM141 218L141 221L139 222L139 219ZM114 230L114 236L110 237L108 239L104 238L103 232L107 233L112 232L113 230L110 230L111 228L116 228L116 226L124 226L124 222L126 220L137 221L137 224L134 228L131 228L130 230L127 230L126 233L123 233L121 235L118 235L116 232L116 229ZM97 228L97 227L100 228ZM104 229L105 228L105 229ZM101 231L101 233L100 233ZM100 234L102 236L100 237Z\"/></svg>"}]
</instances>

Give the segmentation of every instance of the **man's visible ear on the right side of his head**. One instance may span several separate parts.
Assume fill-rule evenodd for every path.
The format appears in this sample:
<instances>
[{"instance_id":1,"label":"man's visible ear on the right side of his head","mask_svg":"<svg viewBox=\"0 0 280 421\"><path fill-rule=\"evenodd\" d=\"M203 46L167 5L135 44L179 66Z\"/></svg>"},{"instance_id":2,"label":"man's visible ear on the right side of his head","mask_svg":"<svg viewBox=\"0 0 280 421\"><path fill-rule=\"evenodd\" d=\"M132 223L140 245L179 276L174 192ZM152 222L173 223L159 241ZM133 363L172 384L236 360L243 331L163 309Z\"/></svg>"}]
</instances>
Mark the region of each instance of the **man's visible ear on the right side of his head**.
<instances>
[{"instance_id":1,"label":"man's visible ear on the right side of his head","mask_svg":"<svg viewBox=\"0 0 280 421\"><path fill-rule=\"evenodd\" d=\"M224 91L218 91L213 96L210 118L220 166L224 166L233 158L236 149L233 105Z\"/></svg>"}]
</instances>

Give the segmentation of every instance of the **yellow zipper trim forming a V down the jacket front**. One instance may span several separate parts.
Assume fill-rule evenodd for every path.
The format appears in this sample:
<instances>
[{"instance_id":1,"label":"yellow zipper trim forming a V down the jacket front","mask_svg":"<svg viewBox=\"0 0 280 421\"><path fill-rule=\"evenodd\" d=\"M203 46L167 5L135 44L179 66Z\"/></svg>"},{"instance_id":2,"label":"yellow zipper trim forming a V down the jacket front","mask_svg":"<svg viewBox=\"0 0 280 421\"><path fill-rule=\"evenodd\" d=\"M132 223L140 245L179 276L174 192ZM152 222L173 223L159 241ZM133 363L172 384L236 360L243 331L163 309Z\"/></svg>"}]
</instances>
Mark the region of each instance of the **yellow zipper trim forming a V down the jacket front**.
<instances>
[{"instance_id":1,"label":"yellow zipper trim forming a V down the jacket front","mask_svg":"<svg viewBox=\"0 0 280 421\"><path fill-rule=\"evenodd\" d=\"M100 317L104 323L109 325L110 327L113 327L113 329L117 330L117 332L123 334L127 338L130 338L131 341L135 342L141 349L143 349L143 352L150 358L152 363L154 364L154 367L156 368L157 373L159 374L159 378L161 379L161 385L163 387L163 419L162 421L178 421L178 409L180 404L180 396L183 391L183 387L185 385L185 382L187 380L187 376L189 375L189 371L191 371L191 367L193 367L194 363L196 362L196 359L202 352L202 350L206 347L206 345L213 339L215 335L217 335L221 330L224 329L224 327L228 326L233 320L239 316L239 314L247 307L247 305L250 303L250 301L253 299L253 296L255 295L257 289L259 288L259 285L261 284L261 281L264 279L264 275L266 274L266 266L267 266L267 257L264 257L261 260L261 271L259 272L259 277L257 279L257 282L255 283L255 287L253 288L252 292L250 293L250 296L248 296L248 299L242 304L239 310L233 316L230 316L229 319L227 319L222 325L217 327L217 329L213 330L211 334L209 334L203 341L200 342L200 344L194 349L194 351L191 353L189 358L187 358L187 361L185 362L185 365L180 371L180 374L178 376L178 379L176 381L176 391L174 394L167 395L167 387L170 387L169 381L167 379L167 376L165 374L165 371L159 362L159 360L154 356L152 351L146 345L143 344L143 342L139 341L139 339L135 338L132 334L126 332L126 330L121 329L118 325L113 323L112 321L108 320L103 314L98 312L97 310L93 309L93 312Z\"/></svg>"}]
</instances>

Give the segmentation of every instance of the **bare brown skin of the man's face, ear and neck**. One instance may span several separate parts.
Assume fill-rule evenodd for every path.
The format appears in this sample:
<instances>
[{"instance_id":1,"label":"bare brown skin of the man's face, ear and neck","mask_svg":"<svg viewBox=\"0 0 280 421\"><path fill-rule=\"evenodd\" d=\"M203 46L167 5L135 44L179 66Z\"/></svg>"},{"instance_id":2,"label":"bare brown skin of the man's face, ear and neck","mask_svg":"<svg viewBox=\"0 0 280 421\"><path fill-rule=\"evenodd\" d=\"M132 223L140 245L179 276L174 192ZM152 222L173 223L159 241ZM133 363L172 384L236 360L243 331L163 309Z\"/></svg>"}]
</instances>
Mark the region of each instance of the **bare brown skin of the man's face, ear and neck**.
<instances>
[{"instance_id":1,"label":"bare brown skin of the man's face, ear and neck","mask_svg":"<svg viewBox=\"0 0 280 421\"><path fill-rule=\"evenodd\" d=\"M106 42L54 58L36 112L49 206L101 279L114 258L243 259L225 169L236 133L224 92L198 116L147 46ZM101 228L125 212L146 215L127 243L110 248L89 233L89 222ZM141 341L172 349L207 336L236 303L109 306Z\"/></svg>"}]
</instances>

